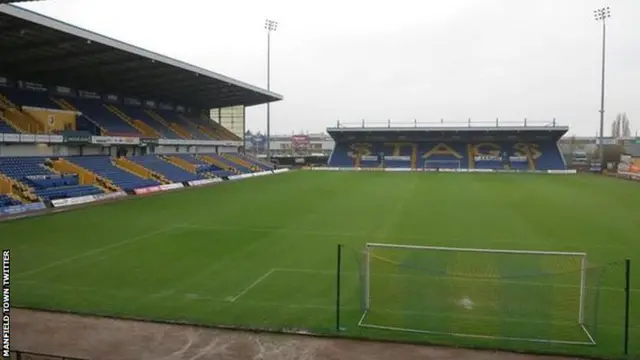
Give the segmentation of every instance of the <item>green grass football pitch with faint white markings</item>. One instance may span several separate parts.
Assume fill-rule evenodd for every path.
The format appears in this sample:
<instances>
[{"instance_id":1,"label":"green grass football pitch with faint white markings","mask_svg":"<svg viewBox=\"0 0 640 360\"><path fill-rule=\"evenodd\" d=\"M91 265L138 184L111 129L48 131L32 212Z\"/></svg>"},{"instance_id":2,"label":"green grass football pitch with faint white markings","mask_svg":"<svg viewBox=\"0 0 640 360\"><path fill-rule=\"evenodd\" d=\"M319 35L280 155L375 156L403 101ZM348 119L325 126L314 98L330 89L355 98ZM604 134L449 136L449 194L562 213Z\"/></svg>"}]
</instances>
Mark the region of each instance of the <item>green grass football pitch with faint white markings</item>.
<instances>
[{"instance_id":1,"label":"green grass football pitch with faint white markings","mask_svg":"<svg viewBox=\"0 0 640 360\"><path fill-rule=\"evenodd\" d=\"M323 334L338 309L344 336L591 355L622 352L630 258L638 354L639 204L589 175L299 171L0 223L0 245L13 306ZM587 289L580 257L381 249L363 270L366 243L584 252Z\"/></svg>"}]
</instances>

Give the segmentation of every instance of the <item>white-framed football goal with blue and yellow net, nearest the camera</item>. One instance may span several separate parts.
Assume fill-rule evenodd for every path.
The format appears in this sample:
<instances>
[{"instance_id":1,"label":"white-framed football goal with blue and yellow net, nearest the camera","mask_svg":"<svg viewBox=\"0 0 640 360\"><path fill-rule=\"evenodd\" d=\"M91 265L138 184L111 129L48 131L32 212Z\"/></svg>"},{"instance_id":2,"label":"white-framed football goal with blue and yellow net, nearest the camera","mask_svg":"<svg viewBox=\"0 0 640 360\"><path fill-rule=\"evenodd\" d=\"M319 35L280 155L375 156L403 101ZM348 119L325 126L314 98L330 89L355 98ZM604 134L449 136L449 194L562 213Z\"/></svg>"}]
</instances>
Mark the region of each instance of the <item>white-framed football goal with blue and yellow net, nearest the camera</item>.
<instances>
[{"instance_id":1,"label":"white-framed football goal with blue and yellow net, nearest the camera","mask_svg":"<svg viewBox=\"0 0 640 360\"><path fill-rule=\"evenodd\" d=\"M598 279L587 254L368 243L365 328L595 345Z\"/></svg>"}]
</instances>

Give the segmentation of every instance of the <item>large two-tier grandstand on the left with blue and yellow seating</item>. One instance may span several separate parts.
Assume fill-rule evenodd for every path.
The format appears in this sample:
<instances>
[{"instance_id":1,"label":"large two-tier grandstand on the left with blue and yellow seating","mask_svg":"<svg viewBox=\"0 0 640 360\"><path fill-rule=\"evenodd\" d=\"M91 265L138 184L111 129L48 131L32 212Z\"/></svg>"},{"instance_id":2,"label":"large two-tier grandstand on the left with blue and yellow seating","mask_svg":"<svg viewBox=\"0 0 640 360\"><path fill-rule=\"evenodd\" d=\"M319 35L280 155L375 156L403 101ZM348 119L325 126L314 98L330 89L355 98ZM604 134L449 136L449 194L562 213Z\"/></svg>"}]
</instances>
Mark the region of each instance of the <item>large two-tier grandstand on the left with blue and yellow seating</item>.
<instances>
[{"instance_id":1,"label":"large two-tier grandstand on the left with blue and yellow seating","mask_svg":"<svg viewBox=\"0 0 640 360\"><path fill-rule=\"evenodd\" d=\"M282 96L11 5L0 24L0 213L273 170L210 114Z\"/></svg>"}]
</instances>

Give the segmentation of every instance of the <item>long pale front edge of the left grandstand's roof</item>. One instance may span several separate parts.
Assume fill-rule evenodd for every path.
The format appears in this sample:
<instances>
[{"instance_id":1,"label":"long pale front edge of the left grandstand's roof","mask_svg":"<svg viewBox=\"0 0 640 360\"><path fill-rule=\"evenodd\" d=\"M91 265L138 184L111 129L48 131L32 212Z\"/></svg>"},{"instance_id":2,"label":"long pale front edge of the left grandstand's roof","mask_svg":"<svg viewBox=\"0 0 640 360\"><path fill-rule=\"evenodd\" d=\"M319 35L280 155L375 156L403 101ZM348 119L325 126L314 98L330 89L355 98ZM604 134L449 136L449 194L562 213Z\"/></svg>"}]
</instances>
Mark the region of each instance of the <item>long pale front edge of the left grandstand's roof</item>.
<instances>
[{"instance_id":1,"label":"long pale front edge of the left grandstand's roof","mask_svg":"<svg viewBox=\"0 0 640 360\"><path fill-rule=\"evenodd\" d=\"M247 84L243 81L240 80L236 80L233 79L231 77L201 68L199 66L195 66L195 65L191 65L189 63L186 63L184 61L180 61L180 60L176 60L173 58L170 58L168 56L162 55L162 54L158 54L156 52L150 51L150 50L146 50L143 48L140 48L138 46L135 45L131 45L128 43L125 43L123 41L120 40L116 40L114 38L108 37L108 36L104 36L101 34L98 34L96 32L93 32L91 30L87 30L87 29L83 29L81 27L69 24L67 22L64 21L60 21L57 19L54 19L50 16L47 15L43 15L40 14L38 12L35 12L33 10L28 10L19 6L15 6L15 5L11 5L11 4L0 4L0 12L10 15L10 16L14 16L26 21L30 21L36 24L40 24L43 26L47 26L50 28L53 28L55 30L61 31L61 32L65 32L67 34L71 34L71 35L75 35L90 41L95 41L97 43L106 45L106 46L110 46L113 48L116 48L118 50L122 50L122 51L126 51L129 53L133 53L136 54L138 56L141 57L145 57L148 58L150 60L154 60L154 61L159 61L162 63L165 63L167 65L172 65L175 67L179 67L182 68L184 70L187 71L192 71L196 74L196 76L199 75L204 75L219 81L224 81L227 82L231 85L235 85L235 86L240 86L240 87L244 87L245 89L251 90L251 91L255 91L257 93L260 93L262 95L265 96L270 96L272 98L274 98L274 101L278 101L278 100L282 100L284 97L281 94L269 91L269 90L265 90L262 88L259 88L257 86L251 85L251 84Z\"/></svg>"}]
</instances>

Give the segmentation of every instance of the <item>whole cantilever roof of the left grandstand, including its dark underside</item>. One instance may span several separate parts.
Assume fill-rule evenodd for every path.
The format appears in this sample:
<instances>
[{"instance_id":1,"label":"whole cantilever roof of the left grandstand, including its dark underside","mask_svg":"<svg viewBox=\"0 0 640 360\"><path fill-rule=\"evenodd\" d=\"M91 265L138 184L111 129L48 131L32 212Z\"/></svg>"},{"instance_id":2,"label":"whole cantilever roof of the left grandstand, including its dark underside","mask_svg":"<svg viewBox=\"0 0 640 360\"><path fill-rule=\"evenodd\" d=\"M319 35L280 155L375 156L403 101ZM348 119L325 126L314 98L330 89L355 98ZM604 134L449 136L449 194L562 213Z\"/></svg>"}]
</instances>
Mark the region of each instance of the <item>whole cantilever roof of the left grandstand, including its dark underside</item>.
<instances>
[{"instance_id":1,"label":"whole cantilever roof of the left grandstand, including its dark underside","mask_svg":"<svg viewBox=\"0 0 640 360\"><path fill-rule=\"evenodd\" d=\"M0 5L0 75L199 108L282 96L13 5Z\"/></svg>"}]
</instances>

